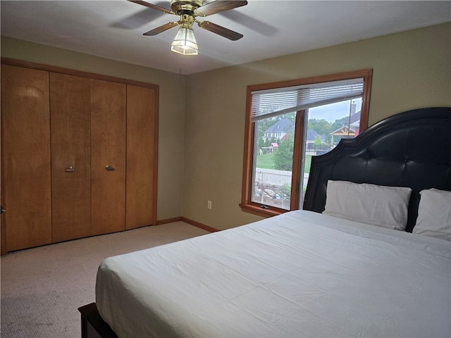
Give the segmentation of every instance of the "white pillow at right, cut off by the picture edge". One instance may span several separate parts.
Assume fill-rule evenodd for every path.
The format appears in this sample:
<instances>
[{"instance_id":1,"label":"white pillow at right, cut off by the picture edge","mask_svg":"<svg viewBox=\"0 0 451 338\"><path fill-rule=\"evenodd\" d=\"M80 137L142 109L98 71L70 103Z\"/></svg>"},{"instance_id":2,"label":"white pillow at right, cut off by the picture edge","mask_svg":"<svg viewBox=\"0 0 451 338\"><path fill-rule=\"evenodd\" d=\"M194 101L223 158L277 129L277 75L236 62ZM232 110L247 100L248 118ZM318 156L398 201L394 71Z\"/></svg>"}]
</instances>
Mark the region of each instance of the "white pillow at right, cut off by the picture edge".
<instances>
[{"instance_id":1,"label":"white pillow at right, cut off by the picture edge","mask_svg":"<svg viewBox=\"0 0 451 338\"><path fill-rule=\"evenodd\" d=\"M451 241L451 192L428 189L420 192L414 234Z\"/></svg>"}]
</instances>

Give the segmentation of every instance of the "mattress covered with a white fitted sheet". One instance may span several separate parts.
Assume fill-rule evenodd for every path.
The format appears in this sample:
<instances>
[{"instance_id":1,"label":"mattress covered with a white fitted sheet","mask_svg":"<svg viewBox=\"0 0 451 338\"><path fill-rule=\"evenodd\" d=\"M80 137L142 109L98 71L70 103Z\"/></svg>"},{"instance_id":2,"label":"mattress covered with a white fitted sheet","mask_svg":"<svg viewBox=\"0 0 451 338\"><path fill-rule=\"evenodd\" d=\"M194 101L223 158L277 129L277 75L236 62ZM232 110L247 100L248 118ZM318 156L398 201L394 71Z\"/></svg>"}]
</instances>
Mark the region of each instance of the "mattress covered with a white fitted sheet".
<instances>
[{"instance_id":1,"label":"mattress covered with a white fitted sheet","mask_svg":"<svg viewBox=\"0 0 451 338\"><path fill-rule=\"evenodd\" d=\"M310 211L106 258L118 337L451 337L451 243Z\"/></svg>"}]
</instances>

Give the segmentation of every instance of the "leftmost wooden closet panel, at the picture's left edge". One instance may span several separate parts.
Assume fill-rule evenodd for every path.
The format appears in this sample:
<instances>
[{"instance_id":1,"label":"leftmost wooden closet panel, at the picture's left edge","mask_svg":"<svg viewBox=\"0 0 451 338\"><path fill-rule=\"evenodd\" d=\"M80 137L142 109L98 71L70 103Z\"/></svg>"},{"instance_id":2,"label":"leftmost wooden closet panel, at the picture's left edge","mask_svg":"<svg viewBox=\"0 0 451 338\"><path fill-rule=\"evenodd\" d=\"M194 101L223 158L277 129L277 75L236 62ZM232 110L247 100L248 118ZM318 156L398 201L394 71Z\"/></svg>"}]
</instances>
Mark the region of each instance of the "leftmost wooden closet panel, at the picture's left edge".
<instances>
[{"instance_id":1,"label":"leftmost wooden closet panel, at the picture's left edge","mask_svg":"<svg viewBox=\"0 0 451 338\"><path fill-rule=\"evenodd\" d=\"M49 73L2 64L2 251L51 243L50 168Z\"/></svg>"}]
</instances>

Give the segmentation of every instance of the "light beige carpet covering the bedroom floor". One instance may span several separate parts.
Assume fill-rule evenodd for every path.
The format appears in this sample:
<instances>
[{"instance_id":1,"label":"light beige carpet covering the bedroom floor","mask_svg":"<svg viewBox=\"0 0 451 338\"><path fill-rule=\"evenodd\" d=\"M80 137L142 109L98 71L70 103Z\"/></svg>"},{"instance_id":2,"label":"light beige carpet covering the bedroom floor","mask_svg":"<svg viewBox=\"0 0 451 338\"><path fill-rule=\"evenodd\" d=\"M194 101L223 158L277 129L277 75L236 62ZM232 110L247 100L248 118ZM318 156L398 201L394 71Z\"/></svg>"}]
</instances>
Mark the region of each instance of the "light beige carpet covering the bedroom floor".
<instances>
[{"instance_id":1,"label":"light beige carpet covering the bedroom floor","mask_svg":"<svg viewBox=\"0 0 451 338\"><path fill-rule=\"evenodd\" d=\"M183 222L77 239L1 257L3 338L78 338L104 258L207 234Z\"/></svg>"}]
</instances>

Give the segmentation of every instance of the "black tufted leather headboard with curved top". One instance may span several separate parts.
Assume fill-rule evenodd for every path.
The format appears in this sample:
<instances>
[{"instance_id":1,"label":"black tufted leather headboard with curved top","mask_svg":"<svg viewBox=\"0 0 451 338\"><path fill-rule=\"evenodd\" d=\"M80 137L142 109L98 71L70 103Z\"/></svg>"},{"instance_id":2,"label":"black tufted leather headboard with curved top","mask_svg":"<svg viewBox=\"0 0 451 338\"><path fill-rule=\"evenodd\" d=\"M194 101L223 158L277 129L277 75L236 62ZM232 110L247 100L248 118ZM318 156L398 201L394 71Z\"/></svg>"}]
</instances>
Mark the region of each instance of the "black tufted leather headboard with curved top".
<instances>
[{"instance_id":1,"label":"black tufted leather headboard with curved top","mask_svg":"<svg viewBox=\"0 0 451 338\"><path fill-rule=\"evenodd\" d=\"M406 227L412 232L419 192L451 191L451 108L390 116L355 139L342 139L327 154L312 157L305 210L324 211L328 180L412 188Z\"/></svg>"}]
</instances>

